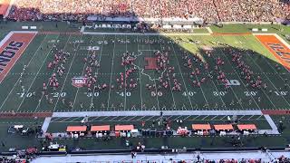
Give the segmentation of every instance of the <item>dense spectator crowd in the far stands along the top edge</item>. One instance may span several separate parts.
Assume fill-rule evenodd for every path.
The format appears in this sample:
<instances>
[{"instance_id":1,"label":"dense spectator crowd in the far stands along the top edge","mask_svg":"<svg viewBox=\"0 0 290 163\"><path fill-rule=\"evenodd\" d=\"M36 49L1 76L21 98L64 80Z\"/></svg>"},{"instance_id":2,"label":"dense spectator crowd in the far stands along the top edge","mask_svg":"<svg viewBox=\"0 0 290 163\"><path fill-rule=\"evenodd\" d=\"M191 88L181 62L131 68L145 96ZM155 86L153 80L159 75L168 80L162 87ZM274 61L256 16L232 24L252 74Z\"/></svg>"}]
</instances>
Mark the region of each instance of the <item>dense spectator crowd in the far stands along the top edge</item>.
<instances>
[{"instance_id":1,"label":"dense spectator crowd in the far stands along the top edge","mask_svg":"<svg viewBox=\"0 0 290 163\"><path fill-rule=\"evenodd\" d=\"M271 22L290 19L283 0L14 0L9 19L78 20L88 15L146 18L200 17L206 22Z\"/></svg>"}]
</instances>

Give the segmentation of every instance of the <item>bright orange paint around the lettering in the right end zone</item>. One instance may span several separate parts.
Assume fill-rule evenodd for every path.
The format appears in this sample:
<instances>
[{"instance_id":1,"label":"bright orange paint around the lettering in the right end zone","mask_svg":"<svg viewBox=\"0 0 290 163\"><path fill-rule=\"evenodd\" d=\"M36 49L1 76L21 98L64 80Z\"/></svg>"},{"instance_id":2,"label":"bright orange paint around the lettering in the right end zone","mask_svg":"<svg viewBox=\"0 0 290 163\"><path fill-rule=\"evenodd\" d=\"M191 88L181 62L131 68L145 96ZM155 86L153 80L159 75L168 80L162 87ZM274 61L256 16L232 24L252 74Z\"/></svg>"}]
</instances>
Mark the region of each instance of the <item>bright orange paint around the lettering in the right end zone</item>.
<instances>
[{"instance_id":1,"label":"bright orange paint around the lettering in the right end zone","mask_svg":"<svg viewBox=\"0 0 290 163\"><path fill-rule=\"evenodd\" d=\"M290 53L290 49L285 46L284 43L280 42L279 39L277 39L275 37L275 35L256 35L256 38L263 43L266 48L272 53L274 54L275 58L287 69L290 70L290 63L286 62L285 59L283 59L277 52L275 52L275 50L273 48L271 48L271 46L269 45L269 43L275 43L278 44L279 46L283 47L283 50L279 50L278 52L280 53ZM290 59L289 58L290 55L285 55L284 58Z\"/></svg>"}]
</instances>

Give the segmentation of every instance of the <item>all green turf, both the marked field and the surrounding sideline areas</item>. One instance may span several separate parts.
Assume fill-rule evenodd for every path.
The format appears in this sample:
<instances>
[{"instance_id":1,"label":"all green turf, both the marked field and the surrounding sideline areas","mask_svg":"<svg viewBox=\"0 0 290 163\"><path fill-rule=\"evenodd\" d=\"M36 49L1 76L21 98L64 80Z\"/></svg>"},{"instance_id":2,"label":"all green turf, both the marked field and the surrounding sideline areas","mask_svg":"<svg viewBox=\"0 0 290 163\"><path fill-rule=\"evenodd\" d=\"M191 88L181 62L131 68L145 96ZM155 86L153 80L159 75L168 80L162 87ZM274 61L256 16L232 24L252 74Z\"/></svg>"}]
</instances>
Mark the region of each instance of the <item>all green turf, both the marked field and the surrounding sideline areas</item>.
<instances>
[{"instance_id":1,"label":"all green turf, both the marked field and the surrounding sideline areas","mask_svg":"<svg viewBox=\"0 0 290 163\"><path fill-rule=\"evenodd\" d=\"M20 30L21 25L31 25L34 23L7 23L1 24L3 32L0 38L4 38L11 30ZM14 64L14 67L0 84L0 112L79 112L79 111L130 111L137 110L139 115L116 116L116 117L90 117L92 124L134 124L136 128L140 128L140 122L146 121L146 128L150 128L153 120L158 120L160 116L142 116L140 110L289 110L290 94L289 94L289 72L280 65L274 55L270 53L265 46L260 43L254 35L209 35L205 29L195 30L196 34L205 33L205 35L146 35L146 34L64 34L63 32L76 32L80 30L73 27L72 24L59 23L55 24L35 23L40 26L39 31L57 31L60 34L40 33L34 37L21 58ZM252 27L256 25L225 25L223 28L211 26L214 33L248 33ZM288 27L279 32L279 26L266 25L258 26L269 27L269 33L276 33L282 36L289 31ZM273 29L272 29L273 28ZM92 31L96 32L96 31ZM108 32L108 31L104 31ZM227 46L225 45L227 44ZM203 51L204 46L213 48L211 57ZM49 78L56 68L48 69L49 62L53 62L54 54L58 50L71 53L68 60L63 63L65 72L63 76L57 75L60 86L53 91L48 87L45 94L48 99L52 99L52 103L46 100L43 94L43 82L48 83ZM94 49L88 50L88 49ZM247 85L242 79L237 65L232 63L228 50L242 52L243 61L251 67L253 77L256 79L260 76L262 81L266 83L266 89L256 89ZM173 77L169 73L169 78L165 78L169 82L169 88L151 89L147 88L147 84L160 85L159 78L162 73L155 70L145 70L149 64L146 57L153 58L157 51L165 50L169 53L169 66L174 67L175 78L181 85L180 91L172 91ZM123 53L134 53L136 60L134 65L137 68L131 73L126 82L133 79L137 83L137 87L116 88L119 84L117 79L120 73L125 72L129 66L121 65L121 56ZM84 58L96 54L97 61L100 62L100 68L93 67L92 73L97 74L96 85L106 83L109 85L106 89L94 90L88 92L86 87L76 88L72 84L74 77L84 76L87 62L83 62ZM199 56L202 62L209 64L206 70L204 63L196 62L191 70L185 66L184 56L188 56L192 60ZM225 72L228 81L234 81L236 84L230 86L226 91L225 87L218 82L218 73L214 71L217 58L222 59L225 64L220 66L220 71ZM23 72L24 65L26 69ZM192 70L198 68L199 75L190 76ZM23 73L21 77L21 73ZM210 79L209 74L213 76ZM207 78L201 87L193 86L193 81L200 81ZM21 81L21 82L20 82ZM24 91L22 90L24 86ZM110 86L113 85L114 88ZM64 101L64 102L63 102ZM73 106L70 106L70 103ZM81 106L82 105L82 106ZM80 125L80 117L57 118L53 117L48 132L64 132L68 125ZM177 119L184 120L183 124L174 122ZM191 129L193 123L213 124L226 123L226 116L178 116L172 115L169 120L172 121L171 128L177 129L179 126ZM238 117L240 123L254 123L258 129L270 129L269 124L264 116L241 116ZM281 116L275 116L274 121L282 119ZM288 124L286 117L285 124ZM43 119L1 119L0 135L1 140L9 141L9 145L0 149L8 149L18 146L27 147L27 144L39 146L38 140L29 139L20 136L11 136L6 134L6 129L14 124L24 124L34 128L41 124ZM155 127L156 129L159 127ZM286 127L285 132L281 136L274 137L245 137L244 144L247 147L254 146L284 146L289 143L289 129ZM26 142L17 143L25 140ZM213 140L214 139L214 140ZM110 142L99 142L94 139L82 139L75 141L73 139L58 139L59 142L69 143L72 146L82 146L87 149L94 149L92 144L99 149L121 149L124 146L125 139L112 139ZM227 138L132 138L131 142L137 143L145 141L147 147L160 148L161 145L169 147L231 147ZM191 143L189 143L189 141ZM215 143L212 143L215 141Z\"/></svg>"}]
</instances>

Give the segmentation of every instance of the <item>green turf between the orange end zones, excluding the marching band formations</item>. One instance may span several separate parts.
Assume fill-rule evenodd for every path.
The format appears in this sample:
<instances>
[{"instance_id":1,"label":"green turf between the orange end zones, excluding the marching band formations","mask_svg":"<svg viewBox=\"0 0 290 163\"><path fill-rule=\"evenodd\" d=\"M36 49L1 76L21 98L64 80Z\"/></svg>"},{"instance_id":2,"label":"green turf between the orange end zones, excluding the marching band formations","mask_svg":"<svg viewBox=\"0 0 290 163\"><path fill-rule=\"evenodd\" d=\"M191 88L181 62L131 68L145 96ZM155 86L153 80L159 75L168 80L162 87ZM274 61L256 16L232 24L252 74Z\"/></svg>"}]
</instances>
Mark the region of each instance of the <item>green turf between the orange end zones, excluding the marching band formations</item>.
<instances>
[{"instance_id":1,"label":"green turf between the orange end zones, excluding the marching band formations","mask_svg":"<svg viewBox=\"0 0 290 163\"><path fill-rule=\"evenodd\" d=\"M157 42L161 40L161 42ZM170 41L174 40L174 41ZM199 44L189 43L189 40L198 40ZM126 41L126 42L125 42ZM151 41L152 43L146 43ZM155 42L154 42L155 41ZM153 43L154 42L154 43ZM245 80L231 62L231 57L225 52L223 45L215 43L227 43L230 48L243 49L244 62L251 67L255 78L260 76L267 84L267 89L253 89L246 86ZM213 57L208 57L202 50L202 46L214 48ZM88 51L88 46L99 49ZM143 70L147 65L145 57L153 57L162 48L170 49L169 65L174 67L176 79L181 83L181 91L172 89L148 90L146 84L157 84L160 72ZM63 49L71 53L67 62L63 64L65 73L57 77L60 87L53 91L48 89L49 103L42 94L43 82L48 82L56 70L47 68L48 62L53 62L57 49ZM193 53L189 57L199 53L204 62L209 63L209 69L205 70L199 63L193 69L200 69L201 74L196 79L190 78L190 72L182 57L187 51ZM138 53L134 64L138 71L132 73L131 78L137 82L135 89L107 88L101 91L88 92L87 88L75 88L72 85L73 77L83 76L86 63L83 58L96 53L101 67L93 69L92 73L98 74L97 84L117 86L117 78L125 72L121 66L123 53ZM225 65L221 67L227 74L227 80L235 80L239 84L231 86L225 91L224 86L218 80L209 80L209 72L214 70L215 59L221 58ZM144 36L144 35L67 35L67 34L38 34L34 41L24 52L21 60L16 62L12 71L1 83L0 110L14 112L53 112L53 111L82 111L82 110L285 110L289 108L289 86L285 85L285 79L289 79L289 73L283 66L278 66L275 57L259 43L255 36ZM24 65L27 68L22 79ZM212 73L217 76L217 73ZM192 86L192 81L200 81L202 77L208 78L201 87ZM215 79L215 78L214 78ZM24 85L22 91L21 84ZM173 86L173 79L169 78L169 86ZM273 91L273 93L269 93ZM63 102L64 99L64 102ZM73 102L73 107L69 107ZM83 103L83 106L80 106ZM93 106L91 106L93 103Z\"/></svg>"}]
</instances>

